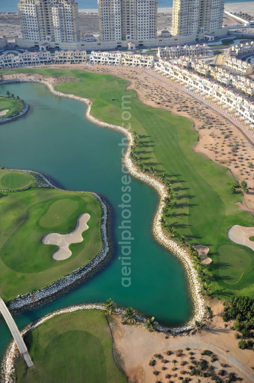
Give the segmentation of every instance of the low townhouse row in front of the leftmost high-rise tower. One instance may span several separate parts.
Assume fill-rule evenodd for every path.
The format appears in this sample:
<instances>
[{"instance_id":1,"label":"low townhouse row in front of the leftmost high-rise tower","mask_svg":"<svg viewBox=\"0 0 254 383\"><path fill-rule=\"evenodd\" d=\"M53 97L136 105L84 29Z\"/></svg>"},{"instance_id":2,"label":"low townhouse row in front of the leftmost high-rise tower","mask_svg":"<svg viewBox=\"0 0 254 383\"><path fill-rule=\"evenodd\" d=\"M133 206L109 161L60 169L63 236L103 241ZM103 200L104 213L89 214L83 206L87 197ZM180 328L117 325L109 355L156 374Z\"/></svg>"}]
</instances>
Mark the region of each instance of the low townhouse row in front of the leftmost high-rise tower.
<instances>
[{"instance_id":1,"label":"low townhouse row in front of the leftmost high-rise tower","mask_svg":"<svg viewBox=\"0 0 254 383\"><path fill-rule=\"evenodd\" d=\"M81 62L86 62L86 51L55 51L55 56L51 56L49 51L23 52L18 53L18 55L4 53L0 55L1 69L52 63L79 64Z\"/></svg>"}]
</instances>

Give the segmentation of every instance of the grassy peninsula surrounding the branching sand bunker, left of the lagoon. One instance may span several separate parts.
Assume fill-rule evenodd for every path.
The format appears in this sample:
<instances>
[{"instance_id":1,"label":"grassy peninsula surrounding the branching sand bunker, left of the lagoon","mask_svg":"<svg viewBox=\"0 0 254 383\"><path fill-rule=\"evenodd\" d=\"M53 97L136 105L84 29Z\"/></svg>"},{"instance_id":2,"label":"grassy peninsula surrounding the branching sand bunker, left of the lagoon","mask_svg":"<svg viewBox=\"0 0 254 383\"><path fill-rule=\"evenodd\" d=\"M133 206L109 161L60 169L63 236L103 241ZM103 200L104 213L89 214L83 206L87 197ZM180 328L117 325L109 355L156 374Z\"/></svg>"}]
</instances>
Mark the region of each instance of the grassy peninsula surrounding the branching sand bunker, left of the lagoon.
<instances>
[{"instance_id":1,"label":"grassy peninsula surrounding the branching sand bunker, left of the lagoon","mask_svg":"<svg viewBox=\"0 0 254 383\"><path fill-rule=\"evenodd\" d=\"M42 237L51 232L71 232L82 213L91 216L83 242L70 245L68 259L54 260L52 254L58 246L42 244ZM91 193L53 188L2 192L0 217L0 296L4 300L73 272L91 260L101 246L100 204Z\"/></svg>"}]
</instances>

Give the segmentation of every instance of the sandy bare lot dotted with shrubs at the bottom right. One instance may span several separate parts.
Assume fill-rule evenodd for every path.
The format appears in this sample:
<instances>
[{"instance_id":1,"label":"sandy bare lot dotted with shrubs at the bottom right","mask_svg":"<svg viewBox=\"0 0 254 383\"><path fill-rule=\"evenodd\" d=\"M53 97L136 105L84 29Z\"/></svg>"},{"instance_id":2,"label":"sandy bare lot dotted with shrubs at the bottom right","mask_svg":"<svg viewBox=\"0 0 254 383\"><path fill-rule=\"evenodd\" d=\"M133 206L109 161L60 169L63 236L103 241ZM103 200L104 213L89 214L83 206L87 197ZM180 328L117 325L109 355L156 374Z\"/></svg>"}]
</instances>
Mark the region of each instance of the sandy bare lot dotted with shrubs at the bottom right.
<instances>
[{"instance_id":1,"label":"sandy bare lot dotted with shrubs at the bottom right","mask_svg":"<svg viewBox=\"0 0 254 383\"><path fill-rule=\"evenodd\" d=\"M191 348L196 360L205 358L201 355L203 350L212 351L218 358L216 362L212 363L216 372L222 368L220 363L226 363L226 372L235 372L246 383L254 381L253 371L251 370L254 362L253 351L240 350L238 340L234 336L235 331L230 330L231 324L228 324L225 328L221 318L223 313L222 302L214 298L207 301L207 304L212 306L213 315L212 319L207 319L204 330L193 331L191 334L183 336L169 335L168 339L165 338L166 334L164 333L148 332L142 324L138 326L123 325L121 317L112 317L113 338L116 348L124 361L125 372L131 382L154 383L155 380L162 383L168 381L178 382L178 376L181 375L180 370L188 370L190 364L188 352L185 350L186 347ZM177 349L183 349L183 357L176 357L175 351ZM173 354L170 357L165 355L166 350L173 351ZM154 358L154 354L162 354L163 358L169 361L164 364L167 370L162 370L163 363L158 359L155 367L148 365L149 360ZM175 364L177 370L174 372L171 370L173 367L172 359L178 360ZM180 361L183 360L188 361L185 367L180 366ZM210 358L208 360L210 362ZM159 370L159 376L156 377L153 374L154 369ZM166 373L170 373L170 380L165 378ZM176 377L173 376L174 373L177 374ZM192 378L192 382L196 383L197 379ZM201 382L208 381L210 380L207 380L207 378L201 378Z\"/></svg>"}]
</instances>

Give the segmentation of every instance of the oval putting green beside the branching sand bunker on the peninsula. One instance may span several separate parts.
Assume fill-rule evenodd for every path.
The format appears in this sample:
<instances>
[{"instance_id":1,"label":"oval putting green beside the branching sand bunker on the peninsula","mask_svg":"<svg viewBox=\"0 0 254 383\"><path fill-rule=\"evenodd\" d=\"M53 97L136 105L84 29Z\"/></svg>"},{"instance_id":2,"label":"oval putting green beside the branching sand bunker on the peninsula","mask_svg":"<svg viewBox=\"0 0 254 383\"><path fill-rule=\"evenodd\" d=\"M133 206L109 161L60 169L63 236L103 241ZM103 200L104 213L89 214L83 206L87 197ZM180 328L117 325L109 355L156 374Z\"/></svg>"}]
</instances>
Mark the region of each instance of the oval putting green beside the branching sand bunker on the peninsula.
<instances>
[{"instance_id":1,"label":"oval putting green beside the branching sand bunker on the peninsula","mask_svg":"<svg viewBox=\"0 0 254 383\"><path fill-rule=\"evenodd\" d=\"M78 202L70 198L62 198L53 202L49 210L40 218L42 228L53 228L67 221L71 214L78 209Z\"/></svg>"}]
</instances>

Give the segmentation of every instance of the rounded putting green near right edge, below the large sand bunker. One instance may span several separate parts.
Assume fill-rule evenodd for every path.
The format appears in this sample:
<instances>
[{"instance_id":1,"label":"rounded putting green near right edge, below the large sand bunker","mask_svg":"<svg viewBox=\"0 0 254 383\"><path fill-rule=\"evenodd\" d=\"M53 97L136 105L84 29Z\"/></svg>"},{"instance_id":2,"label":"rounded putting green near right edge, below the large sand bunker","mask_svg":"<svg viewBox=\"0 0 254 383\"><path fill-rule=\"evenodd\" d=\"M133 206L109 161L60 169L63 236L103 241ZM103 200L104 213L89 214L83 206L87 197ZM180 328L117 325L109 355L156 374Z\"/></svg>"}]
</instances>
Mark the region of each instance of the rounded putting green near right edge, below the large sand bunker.
<instances>
[{"instance_id":1,"label":"rounded putting green near right edge, below the large sand bunker","mask_svg":"<svg viewBox=\"0 0 254 383\"><path fill-rule=\"evenodd\" d=\"M251 266L252 257L246 253L244 246L235 249L233 245L223 245L218 249L220 268L220 278L230 284L239 281L243 273Z\"/></svg>"}]
</instances>

